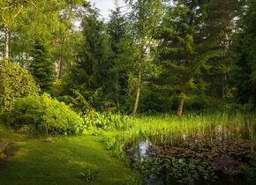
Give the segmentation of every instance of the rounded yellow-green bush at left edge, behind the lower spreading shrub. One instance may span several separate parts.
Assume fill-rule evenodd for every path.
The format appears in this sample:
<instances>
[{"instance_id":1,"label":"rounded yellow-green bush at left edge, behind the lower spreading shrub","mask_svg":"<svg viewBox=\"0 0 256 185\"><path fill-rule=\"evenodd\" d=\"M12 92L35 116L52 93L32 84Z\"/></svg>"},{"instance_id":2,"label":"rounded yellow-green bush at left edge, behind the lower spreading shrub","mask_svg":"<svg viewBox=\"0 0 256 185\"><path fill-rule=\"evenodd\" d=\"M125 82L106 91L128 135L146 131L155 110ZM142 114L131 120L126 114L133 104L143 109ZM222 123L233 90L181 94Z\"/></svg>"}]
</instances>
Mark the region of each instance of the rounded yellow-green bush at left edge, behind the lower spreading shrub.
<instances>
[{"instance_id":1,"label":"rounded yellow-green bush at left edge, behind the lower spreading shrub","mask_svg":"<svg viewBox=\"0 0 256 185\"><path fill-rule=\"evenodd\" d=\"M9 61L0 63L0 112L10 110L15 98L35 95L39 91L27 70Z\"/></svg>"}]
</instances>

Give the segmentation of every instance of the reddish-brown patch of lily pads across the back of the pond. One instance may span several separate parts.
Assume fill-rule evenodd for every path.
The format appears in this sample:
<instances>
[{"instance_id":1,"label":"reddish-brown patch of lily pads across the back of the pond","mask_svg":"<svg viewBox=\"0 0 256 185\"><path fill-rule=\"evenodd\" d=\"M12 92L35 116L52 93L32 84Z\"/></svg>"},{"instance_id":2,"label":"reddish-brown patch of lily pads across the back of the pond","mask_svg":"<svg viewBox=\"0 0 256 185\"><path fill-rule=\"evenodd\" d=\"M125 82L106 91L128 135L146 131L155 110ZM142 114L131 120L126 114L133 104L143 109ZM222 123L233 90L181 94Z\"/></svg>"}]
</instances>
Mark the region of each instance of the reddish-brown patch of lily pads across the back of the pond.
<instances>
[{"instance_id":1,"label":"reddish-brown patch of lily pads across the back of the pond","mask_svg":"<svg viewBox=\"0 0 256 185\"><path fill-rule=\"evenodd\" d=\"M252 142L245 139L190 139L178 147L151 145L147 156L176 159L205 159L216 171L235 174L255 153Z\"/></svg>"}]
</instances>

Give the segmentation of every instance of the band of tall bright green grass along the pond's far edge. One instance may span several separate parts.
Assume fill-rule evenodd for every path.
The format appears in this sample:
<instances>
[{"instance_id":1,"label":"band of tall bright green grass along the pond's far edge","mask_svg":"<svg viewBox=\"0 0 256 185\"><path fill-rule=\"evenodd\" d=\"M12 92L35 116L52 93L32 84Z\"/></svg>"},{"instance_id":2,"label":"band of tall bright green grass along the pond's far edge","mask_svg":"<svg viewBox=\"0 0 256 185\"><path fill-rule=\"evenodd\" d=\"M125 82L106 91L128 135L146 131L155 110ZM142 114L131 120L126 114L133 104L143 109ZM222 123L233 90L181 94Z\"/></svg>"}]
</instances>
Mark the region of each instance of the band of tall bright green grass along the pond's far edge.
<instances>
[{"instance_id":1,"label":"band of tall bright green grass along the pond's far edge","mask_svg":"<svg viewBox=\"0 0 256 185\"><path fill-rule=\"evenodd\" d=\"M215 113L176 115L154 115L129 117L123 130L105 133L108 148L122 153L122 147L139 138L162 139L162 142L182 140L184 137L245 137L255 142L255 113Z\"/></svg>"}]
</instances>

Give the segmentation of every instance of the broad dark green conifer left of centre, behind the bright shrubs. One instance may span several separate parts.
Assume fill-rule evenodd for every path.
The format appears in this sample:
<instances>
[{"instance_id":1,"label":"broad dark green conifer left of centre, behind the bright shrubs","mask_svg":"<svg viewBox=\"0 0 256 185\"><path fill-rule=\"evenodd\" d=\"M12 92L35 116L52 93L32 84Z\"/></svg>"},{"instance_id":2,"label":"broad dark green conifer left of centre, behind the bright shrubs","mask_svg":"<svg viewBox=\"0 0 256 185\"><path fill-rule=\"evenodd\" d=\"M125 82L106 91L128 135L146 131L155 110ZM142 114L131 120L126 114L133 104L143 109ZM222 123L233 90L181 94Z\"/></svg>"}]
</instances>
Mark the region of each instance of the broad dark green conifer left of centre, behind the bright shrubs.
<instances>
[{"instance_id":1,"label":"broad dark green conifer left of centre, behind the bright shrubs","mask_svg":"<svg viewBox=\"0 0 256 185\"><path fill-rule=\"evenodd\" d=\"M109 36L98 13L94 11L83 19L83 41L79 43L75 62L65 77L66 94L77 91L91 106L101 108L108 102L109 88ZM99 98L101 97L101 99Z\"/></svg>"}]
</instances>

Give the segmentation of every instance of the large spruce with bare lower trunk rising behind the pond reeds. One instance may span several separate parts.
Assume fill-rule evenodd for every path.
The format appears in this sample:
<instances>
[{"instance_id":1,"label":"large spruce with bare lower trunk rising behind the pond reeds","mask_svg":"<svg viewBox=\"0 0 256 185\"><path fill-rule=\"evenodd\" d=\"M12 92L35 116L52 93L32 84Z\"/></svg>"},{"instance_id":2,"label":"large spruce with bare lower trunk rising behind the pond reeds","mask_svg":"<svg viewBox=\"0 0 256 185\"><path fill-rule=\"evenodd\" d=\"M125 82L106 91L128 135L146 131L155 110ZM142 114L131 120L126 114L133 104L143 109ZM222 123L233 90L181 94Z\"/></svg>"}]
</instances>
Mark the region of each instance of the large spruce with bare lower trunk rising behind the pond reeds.
<instances>
[{"instance_id":1,"label":"large spruce with bare lower trunk rising behind the pond reeds","mask_svg":"<svg viewBox=\"0 0 256 185\"><path fill-rule=\"evenodd\" d=\"M184 102L202 94L207 84L203 73L210 58L218 55L216 41L207 33L206 4L200 1L174 1L169 5L159 31L159 57L162 66L159 88L178 96L177 115L183 114Z\"/></svg>"}]
</instances>

